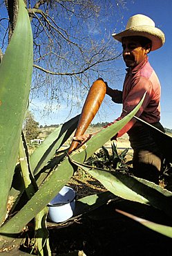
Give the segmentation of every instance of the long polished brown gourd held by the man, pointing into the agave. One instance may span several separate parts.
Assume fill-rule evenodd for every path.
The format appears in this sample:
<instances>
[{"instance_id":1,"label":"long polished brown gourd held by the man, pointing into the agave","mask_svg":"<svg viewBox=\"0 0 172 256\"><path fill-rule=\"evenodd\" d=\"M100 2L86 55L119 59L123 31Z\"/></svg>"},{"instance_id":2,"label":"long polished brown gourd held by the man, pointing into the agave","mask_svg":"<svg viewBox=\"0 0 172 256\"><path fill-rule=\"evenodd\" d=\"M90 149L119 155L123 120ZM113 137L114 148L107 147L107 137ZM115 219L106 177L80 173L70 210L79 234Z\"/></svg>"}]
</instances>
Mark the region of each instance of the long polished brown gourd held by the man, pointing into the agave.
<instances>
[{"instance_id":1,"label":"long polished brown gourd held by the man, pointing into the agave","mask_svg":"<svg viewBox=\"0 0 172 256\"><path fill-rule=\"evenodd\" d=\"M105 94L106 84L104 83L104 80L102 78L98 78L88 91L88 95L86 97L86 101L84 102L82 113L79 118L79 122L74 136L82 136L84 134L84 132L90 125L90 122L93 120L97 111L99 110L99 107L104 100ZM68 154L76 149L77 145L78 142L73 140L68 150Z\"/></svg>"}]
</instances>

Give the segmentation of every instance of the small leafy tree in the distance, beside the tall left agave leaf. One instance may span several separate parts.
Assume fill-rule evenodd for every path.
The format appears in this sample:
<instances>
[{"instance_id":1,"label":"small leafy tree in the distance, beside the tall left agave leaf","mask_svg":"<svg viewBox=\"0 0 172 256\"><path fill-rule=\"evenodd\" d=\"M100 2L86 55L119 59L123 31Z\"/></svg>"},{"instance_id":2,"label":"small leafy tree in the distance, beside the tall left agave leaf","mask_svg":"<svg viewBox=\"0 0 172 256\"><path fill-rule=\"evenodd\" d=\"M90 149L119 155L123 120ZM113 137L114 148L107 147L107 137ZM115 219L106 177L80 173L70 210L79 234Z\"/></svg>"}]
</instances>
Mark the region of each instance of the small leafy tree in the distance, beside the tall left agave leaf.
<instances>
[{"instance_id":1,"label":"small leafy tree in the distance, beside the tall left agave leaf","mask_svg":"<svg viewBox=\"0 0 172 256\"><path fill-rule=\"evenodd\" d=\"M35 121L35 117L30 111L28 111L26 119L23 122L23 131L27 142L39 136L39 122Z\"/></svg>"}]
</instances>

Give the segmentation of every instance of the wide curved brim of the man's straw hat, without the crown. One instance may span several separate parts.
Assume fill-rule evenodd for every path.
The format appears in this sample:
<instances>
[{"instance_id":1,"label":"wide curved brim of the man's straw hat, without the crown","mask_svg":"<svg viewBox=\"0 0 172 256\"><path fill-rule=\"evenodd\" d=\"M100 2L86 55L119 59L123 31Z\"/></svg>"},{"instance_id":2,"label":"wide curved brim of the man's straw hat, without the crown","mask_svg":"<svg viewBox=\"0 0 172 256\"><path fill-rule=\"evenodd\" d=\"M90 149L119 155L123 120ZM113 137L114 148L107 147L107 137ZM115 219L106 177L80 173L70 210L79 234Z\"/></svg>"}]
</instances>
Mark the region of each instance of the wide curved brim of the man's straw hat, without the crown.
<instances>
[{"instance_id":1,"label":"wide curved brim of the man's straw hat, without the crown","mask_svg":"<svg viewBox=\"0 0 172 256\"><path fill-rule=\"evenodd\" d=\"M162 47L165 42L165 36L162 30L160 30L159 28L153 28L152 26L135 26L133 28L122 31L121 33L114 33L112 36L119 42L122 42L123 37L147 37L152 42L151 51L155 51L158 48Z\"/></svg>"}]
</instances>

